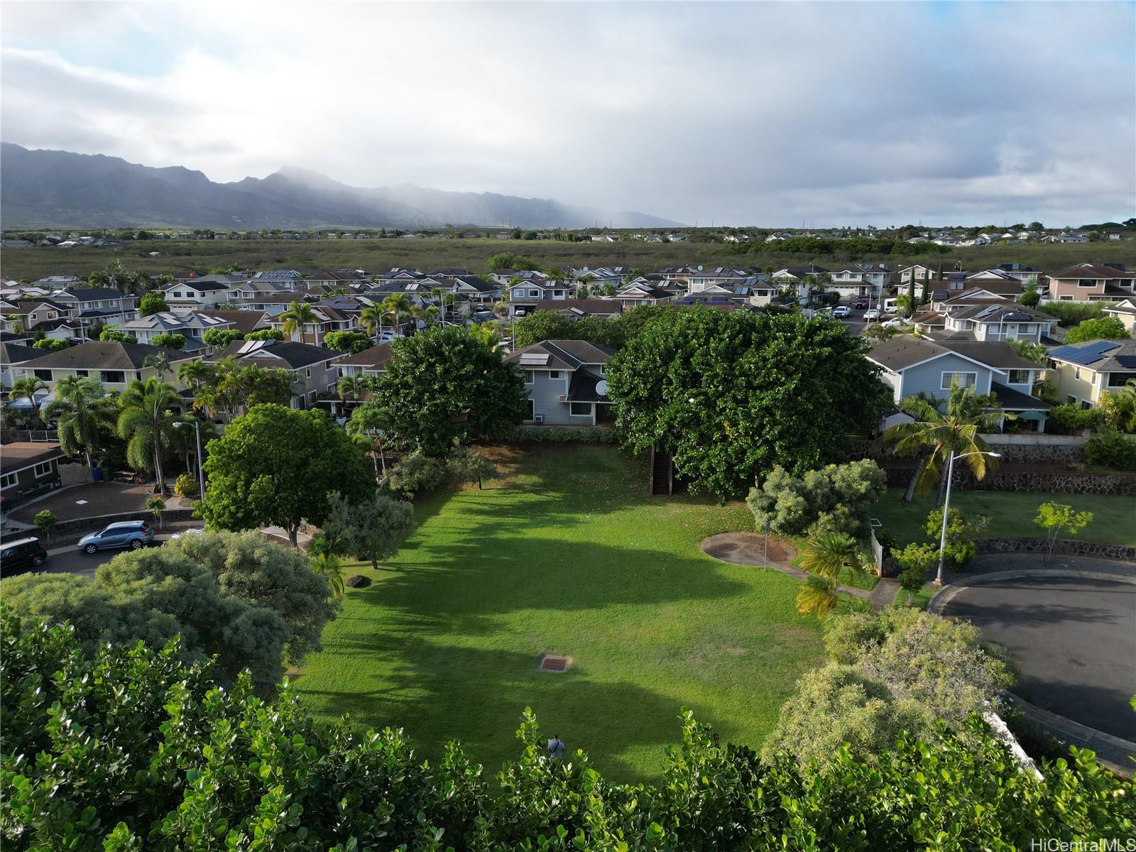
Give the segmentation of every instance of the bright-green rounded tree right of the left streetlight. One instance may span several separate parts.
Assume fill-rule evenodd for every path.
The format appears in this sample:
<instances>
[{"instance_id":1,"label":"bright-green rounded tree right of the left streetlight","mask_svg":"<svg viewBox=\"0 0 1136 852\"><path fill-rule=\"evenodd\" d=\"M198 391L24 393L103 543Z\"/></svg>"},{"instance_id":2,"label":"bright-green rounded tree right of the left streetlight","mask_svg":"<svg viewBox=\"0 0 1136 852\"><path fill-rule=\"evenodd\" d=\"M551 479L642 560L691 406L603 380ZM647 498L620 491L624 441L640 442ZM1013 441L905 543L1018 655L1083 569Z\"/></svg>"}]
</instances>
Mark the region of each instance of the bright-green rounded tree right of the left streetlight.
<instances>
[{"instance_id":1,"label":"bright-green rounded tree right of the left streetlight","mask_svg":"<svg viewBox=\"0 0 1136 852\"><path fill-rule=\"evenodd\" d=\"M302 521L319 525L327 517L329 491L359 502L375 488L362 451L319 411L253 406L208 450L206 523L222 529L279 526L293 546Z\"/></svg>"}]
</instances>

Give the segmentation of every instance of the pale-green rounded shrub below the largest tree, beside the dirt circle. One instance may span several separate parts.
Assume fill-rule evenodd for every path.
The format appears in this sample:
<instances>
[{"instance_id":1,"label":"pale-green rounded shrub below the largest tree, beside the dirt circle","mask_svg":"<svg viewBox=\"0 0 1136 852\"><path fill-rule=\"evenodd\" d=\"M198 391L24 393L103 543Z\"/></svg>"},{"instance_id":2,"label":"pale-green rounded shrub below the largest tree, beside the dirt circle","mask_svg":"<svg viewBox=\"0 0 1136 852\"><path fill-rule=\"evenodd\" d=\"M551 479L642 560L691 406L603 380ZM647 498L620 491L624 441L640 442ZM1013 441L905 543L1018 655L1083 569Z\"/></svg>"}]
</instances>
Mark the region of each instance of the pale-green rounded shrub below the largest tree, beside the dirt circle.
<instances>
[{"instance_id":1,"label":"pale-green rounded shrub below the largest tree, beside the dirt circle","mask_svg":"<svg viewBox=\"0 0 1136 852\"><path fill-rule=\"evenodd\" d=\"M871 459L829 465L796 477L777 466L746 503L758 529L782 535L845 533L862 535L868 508L884 496L886 475Z\"/></svg>"}]
</instances>

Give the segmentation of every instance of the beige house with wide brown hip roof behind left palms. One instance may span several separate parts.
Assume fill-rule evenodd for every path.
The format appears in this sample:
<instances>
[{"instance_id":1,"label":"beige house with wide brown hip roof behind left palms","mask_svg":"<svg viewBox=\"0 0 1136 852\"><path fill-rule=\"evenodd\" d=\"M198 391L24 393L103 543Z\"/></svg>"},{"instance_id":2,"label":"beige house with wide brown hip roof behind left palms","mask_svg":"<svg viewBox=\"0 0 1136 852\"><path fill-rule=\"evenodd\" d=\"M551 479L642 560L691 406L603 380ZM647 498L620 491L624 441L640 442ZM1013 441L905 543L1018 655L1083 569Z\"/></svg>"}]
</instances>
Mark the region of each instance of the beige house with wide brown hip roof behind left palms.
<instances>
[{"instance_id":1,"label":"beige house with wide brown hip roof behind left palms","mask_svg":"<svg viewBox=\"0 0 1136 852\"><path fill-rule=\"evenodd\" d=\"M147 359L151 356L165 356L168 359L173 374L166 373L161 378L178 389L183 386L178 384L177 379L178 367L184 361L197 360L197 356L189 352L151 346L148 343L90 341L25 361L19 367L14 368L14 374L16 378L34 376L52 389L56 382L65 376L93 376L98 374L108 391L125 391L126 386L136 378L145 381L151 376L159 375L153 366L147 364Z\"/></svg>"}]
</instances>

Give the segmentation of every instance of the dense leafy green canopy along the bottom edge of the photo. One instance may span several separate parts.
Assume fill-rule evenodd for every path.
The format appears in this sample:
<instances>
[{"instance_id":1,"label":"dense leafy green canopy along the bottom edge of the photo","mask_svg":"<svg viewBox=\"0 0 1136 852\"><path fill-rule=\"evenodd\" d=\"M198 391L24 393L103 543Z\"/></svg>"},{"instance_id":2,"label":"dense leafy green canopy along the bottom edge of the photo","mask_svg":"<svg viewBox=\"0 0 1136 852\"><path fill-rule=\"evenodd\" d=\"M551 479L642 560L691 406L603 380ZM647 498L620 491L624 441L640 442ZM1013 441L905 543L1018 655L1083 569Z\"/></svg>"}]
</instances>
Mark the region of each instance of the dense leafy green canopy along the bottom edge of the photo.
<instances>
[{"instance_id":1,"label":"dense leafy green canopy along the bottom edge of the photo","mask_svg":"<svg viewBox=\"0 0 1136 852\"><path fill-rule=\"evenodd\" d=\"M1091 752L1043 779L976 733L901 735L872 762L762 763L683 712L658 785L616 785L584 752L550 761L526 710L487 777L458 743L437 766L402 730L315 721L295 694L218 690L162 651L84 652L67 626L0 609L6 847L95 850L1018 850L1127 837L1136 788ZM969 722L980 730L977 720Z\"/></svg>"}]
</instances>

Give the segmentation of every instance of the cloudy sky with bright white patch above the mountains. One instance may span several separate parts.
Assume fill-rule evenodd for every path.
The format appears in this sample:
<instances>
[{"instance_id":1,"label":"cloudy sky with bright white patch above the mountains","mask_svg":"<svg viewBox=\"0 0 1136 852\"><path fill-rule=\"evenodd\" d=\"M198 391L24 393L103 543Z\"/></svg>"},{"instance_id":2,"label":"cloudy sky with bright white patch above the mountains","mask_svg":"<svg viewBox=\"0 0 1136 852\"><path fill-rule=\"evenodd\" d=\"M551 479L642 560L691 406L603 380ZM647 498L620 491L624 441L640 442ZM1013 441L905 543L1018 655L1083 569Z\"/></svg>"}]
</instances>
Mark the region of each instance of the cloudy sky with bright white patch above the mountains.
<instances>
[{"instance_id":1,"label":"cloudy sky with bright white patch above the mountains","mask_svg":"<svg viewBox=\"0 0 1136 852\"><path fill-rule=\"evenodd\" d=\"M5 2L0 136L687 225L1136 215L1133 2Z\"/></svg>"}]
</instances>

